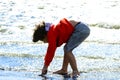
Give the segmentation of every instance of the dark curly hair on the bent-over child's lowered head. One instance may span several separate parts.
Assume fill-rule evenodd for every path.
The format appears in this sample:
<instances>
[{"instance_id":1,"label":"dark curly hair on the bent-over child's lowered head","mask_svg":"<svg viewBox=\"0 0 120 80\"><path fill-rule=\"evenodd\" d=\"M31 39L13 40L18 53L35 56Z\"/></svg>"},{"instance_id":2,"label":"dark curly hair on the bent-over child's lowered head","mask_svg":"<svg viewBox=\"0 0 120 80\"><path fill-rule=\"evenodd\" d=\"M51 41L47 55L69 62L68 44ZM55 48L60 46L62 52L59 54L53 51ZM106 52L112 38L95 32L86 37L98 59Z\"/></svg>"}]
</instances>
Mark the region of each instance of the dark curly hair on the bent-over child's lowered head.
<instances>
[{"instance_id":1,"label":"dark curly hair on the bent-over child's lowered head","mask_svg":"<svg viewBox=\"0 0 120 80\"><path fill-rule=\"evenodd\" d=\"M45 30L45 22L42 21L35 26L33 33L33 42L37 42L39 40L43 41L46 35L47 35L47 31Z\"/></svg>"}]
</instances>

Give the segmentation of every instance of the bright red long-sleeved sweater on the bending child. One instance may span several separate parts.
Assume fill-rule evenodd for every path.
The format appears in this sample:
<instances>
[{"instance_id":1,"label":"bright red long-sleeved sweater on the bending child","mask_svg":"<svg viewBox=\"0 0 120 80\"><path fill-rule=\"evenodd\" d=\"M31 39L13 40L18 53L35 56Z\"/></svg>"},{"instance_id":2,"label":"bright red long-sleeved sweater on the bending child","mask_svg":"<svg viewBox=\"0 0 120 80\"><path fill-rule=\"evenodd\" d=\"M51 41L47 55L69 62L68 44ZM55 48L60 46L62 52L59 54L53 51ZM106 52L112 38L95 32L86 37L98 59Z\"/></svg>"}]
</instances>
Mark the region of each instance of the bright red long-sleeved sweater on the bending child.
<instances>
[{"instance_id":1,"label":"bright red long-sleeved sweater on the bending child","mask_svg":"<svg viewBox=\"0 0 120 80\"><path fill-rule=\"evenodd\" d=\"M47 33L48 49L45 56L45 65L49 66L52 61L57 47L66 43L74 31L70 22L63 18L57 25L52 25Z\"/></svg>"}]
</instances>

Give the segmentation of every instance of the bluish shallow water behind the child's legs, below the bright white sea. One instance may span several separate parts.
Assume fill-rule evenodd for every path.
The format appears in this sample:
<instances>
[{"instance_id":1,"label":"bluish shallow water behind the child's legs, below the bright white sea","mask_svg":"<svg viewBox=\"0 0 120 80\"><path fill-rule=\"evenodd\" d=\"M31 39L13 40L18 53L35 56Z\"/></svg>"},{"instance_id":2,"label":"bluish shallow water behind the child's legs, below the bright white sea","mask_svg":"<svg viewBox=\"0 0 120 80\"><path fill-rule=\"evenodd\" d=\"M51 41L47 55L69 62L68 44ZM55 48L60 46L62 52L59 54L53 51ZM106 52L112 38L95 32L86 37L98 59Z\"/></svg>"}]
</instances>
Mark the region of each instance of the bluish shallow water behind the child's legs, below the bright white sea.
<instances>
[{"instance_id":1,"label":"bluish shallow water behind the child's legs, below the bright white sea","mask_svg":"<svg viewBox=\"0 0 120 80\"><path fill-rule=\"evenodd\" d=\"M3 45L2 45L3 47ZM47 44L4 45L0 48L0 68L2 70L39 71L43 65ZM6 49L6 50L5 50ZM120 71L120 45L84 42L73 53L80 71ZM62 66L63 46L56 51L50 71ZM58 64L61 63L61 64Z\"/></svg>"}]
</instances>

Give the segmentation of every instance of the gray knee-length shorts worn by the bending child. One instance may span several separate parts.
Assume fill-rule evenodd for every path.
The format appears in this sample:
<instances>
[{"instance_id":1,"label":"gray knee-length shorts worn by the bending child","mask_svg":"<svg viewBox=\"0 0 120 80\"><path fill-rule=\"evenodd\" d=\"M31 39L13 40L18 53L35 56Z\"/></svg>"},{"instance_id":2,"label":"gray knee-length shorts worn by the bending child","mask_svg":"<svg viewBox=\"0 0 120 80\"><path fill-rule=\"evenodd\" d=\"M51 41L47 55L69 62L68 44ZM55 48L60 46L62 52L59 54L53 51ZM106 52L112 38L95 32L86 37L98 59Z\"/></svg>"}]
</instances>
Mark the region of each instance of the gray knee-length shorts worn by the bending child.
<instances>
[{"instance_id":1,"label":"gray knee-length shorts worn by the bending child","mask_svg":"<svg viewBox=\"0 0 120 80\"><path fill-rule=\"evenodd\" d=\"M87 25L82 22L79 22L75 26L75 30L72 33L70 39L64 46L66 52L72 51L78 45L80 45L90 34L90 29Z\"/></svg>"}]
</instances>

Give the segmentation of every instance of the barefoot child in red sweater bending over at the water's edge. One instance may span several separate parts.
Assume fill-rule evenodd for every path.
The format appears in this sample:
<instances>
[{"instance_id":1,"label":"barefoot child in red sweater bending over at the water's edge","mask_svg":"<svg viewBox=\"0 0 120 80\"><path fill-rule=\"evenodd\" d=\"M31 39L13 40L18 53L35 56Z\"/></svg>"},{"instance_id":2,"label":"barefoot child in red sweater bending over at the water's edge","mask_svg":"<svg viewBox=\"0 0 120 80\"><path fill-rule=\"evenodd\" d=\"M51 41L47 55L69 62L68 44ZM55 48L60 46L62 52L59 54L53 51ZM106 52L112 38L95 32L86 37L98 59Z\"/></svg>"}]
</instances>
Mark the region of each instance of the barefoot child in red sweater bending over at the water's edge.
<instances>
[{"instance_id":1,"label":"barefoot child in red sweater bending over at the water's edge","mask_svg":"<svg viewBox=\"0 0 120 80\"><path fill-rule=\"evenodd\" d=\"M64 46L63 65L60 70L53 73L62 75L67 74L68 64L70 64L73 70L72 75L79 75L77 63L72 51L81 44L89 34L90 29L87 25L75 20L68 21L66 18L61 19L57 25L45 22L36 25L36 29L33 33L33 42L41 40L48 43L42 75L47 73L48 66L54 57L56 48L63 43L66 43Z\"/></svg>"}]
</instances>

